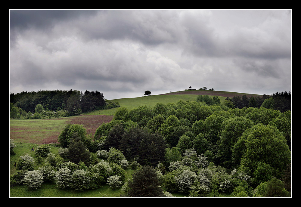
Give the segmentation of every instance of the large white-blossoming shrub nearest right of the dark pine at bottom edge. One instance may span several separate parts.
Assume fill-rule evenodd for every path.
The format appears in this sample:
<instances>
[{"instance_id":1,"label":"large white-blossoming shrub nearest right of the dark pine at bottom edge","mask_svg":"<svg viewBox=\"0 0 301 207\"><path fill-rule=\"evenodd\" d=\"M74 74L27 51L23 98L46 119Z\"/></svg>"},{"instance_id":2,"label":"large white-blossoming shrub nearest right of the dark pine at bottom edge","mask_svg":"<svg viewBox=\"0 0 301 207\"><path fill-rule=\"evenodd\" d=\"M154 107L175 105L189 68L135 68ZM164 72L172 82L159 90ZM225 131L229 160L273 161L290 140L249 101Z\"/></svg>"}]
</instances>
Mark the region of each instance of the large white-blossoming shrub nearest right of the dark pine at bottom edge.
<instances>
[{"instance_id":1,"label":"large white-blossoming shrub nearest right of the dark pine at bottom edge","mask_svg":"<svg viewBox=\"0 0 301 207\"><path fill-rule=\"evenodd\" d=\"M191 170L184 170L182 174L175 177L175 182L181 193L189 193L192 184L197 179L195 172Z\"/></svg>"}]
</instances>

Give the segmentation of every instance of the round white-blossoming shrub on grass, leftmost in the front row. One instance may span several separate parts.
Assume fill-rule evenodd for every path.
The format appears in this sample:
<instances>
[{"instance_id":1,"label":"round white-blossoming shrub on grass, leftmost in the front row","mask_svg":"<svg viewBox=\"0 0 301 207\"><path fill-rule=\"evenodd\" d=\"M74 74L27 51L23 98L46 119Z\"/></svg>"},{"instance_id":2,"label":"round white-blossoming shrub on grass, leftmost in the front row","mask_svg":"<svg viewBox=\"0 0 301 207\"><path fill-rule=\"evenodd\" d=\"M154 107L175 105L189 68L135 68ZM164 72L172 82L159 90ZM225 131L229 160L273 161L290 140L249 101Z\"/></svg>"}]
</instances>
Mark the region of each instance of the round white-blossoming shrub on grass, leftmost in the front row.
<instances>
[{"instance_id":1,"label":"round white-blossoming shrub on grass, leftmost in the front row","mask_svg":"<svg viewBox=\"0 0 301 207\"><path fill-rule=\"evenodd\" d=\"M43 173L39 170L27 171L23 178L23 184L31 189L40 188L43 182Z\"/></svg>"}]
</instances>

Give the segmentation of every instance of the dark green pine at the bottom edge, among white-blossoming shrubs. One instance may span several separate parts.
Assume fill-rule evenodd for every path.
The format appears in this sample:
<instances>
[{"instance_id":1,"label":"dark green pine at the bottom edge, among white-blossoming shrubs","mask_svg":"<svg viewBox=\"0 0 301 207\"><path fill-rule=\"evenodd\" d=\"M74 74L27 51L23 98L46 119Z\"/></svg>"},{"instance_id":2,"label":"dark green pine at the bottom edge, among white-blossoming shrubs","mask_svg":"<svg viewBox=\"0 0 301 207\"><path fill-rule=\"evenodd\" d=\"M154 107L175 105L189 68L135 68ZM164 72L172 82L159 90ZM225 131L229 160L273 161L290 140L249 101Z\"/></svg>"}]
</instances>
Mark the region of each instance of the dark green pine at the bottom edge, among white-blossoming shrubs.
<instances>
[{"instance_id":1,"label":"dark green pine at the bottom edge, among white-blossoming shrubs","mask_svg":"<svg viewBox=\"0 0 301 207\"><path fill-rule=\"evenodd\" d=\"M129 181L130 197L163 197L163 191L159 187L160 182L154 168L144 166L137 170Z\"/></svg>"}]
</instances>

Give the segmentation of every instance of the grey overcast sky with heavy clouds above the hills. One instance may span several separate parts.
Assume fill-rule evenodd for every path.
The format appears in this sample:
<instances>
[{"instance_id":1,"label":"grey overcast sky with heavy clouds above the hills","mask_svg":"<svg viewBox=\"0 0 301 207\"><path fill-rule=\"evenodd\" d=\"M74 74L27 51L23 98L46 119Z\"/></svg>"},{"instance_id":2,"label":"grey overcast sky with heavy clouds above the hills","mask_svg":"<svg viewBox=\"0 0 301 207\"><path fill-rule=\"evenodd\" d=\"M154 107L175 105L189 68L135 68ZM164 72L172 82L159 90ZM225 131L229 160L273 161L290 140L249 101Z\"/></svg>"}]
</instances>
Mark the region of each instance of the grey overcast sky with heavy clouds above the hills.
<instances>
[{"instance_id":1,"label":"grey overcast sky with heavy clouds above the hills","mask_svg":"<svg viewBox=\"0 0 301 207\"><path fill-rule=\"evenodd\" d=\"M10 92L288 92L291 41L291 10L10 10Z\"/></svg>"}]
</instances>

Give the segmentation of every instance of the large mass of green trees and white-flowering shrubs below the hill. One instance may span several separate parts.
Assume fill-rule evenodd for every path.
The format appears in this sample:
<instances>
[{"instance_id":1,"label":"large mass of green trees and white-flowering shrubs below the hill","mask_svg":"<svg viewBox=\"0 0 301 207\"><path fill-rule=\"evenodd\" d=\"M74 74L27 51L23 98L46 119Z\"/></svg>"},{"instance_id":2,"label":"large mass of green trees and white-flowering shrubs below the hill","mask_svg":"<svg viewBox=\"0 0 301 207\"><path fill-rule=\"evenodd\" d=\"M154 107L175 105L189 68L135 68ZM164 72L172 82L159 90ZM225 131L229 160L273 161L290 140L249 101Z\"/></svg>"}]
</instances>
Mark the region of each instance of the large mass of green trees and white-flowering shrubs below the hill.
<instances>
[{"instance_id":1,"label":"large mass of green trees and white-flowering shrubs below the hill","mask_svg":"<svg viewBox=\"0 0 301 207\"><path fill-rule=\"evenodd\" d=\"M45 153L47 145L37 148L49 162L35 173L62 189L107 183L122 188L124 197L290 197L291 111L264 107L269 98L259 108L207 104L205 96L121 107L94 137L81 125L66 125L59 155ZM27 178L23 184L30 187L34 176L26 172L33 168L24 164L30 159L20 158L11 183ZM126 168L136 169L131 180Z\"/></svg>"}]
</instances>

